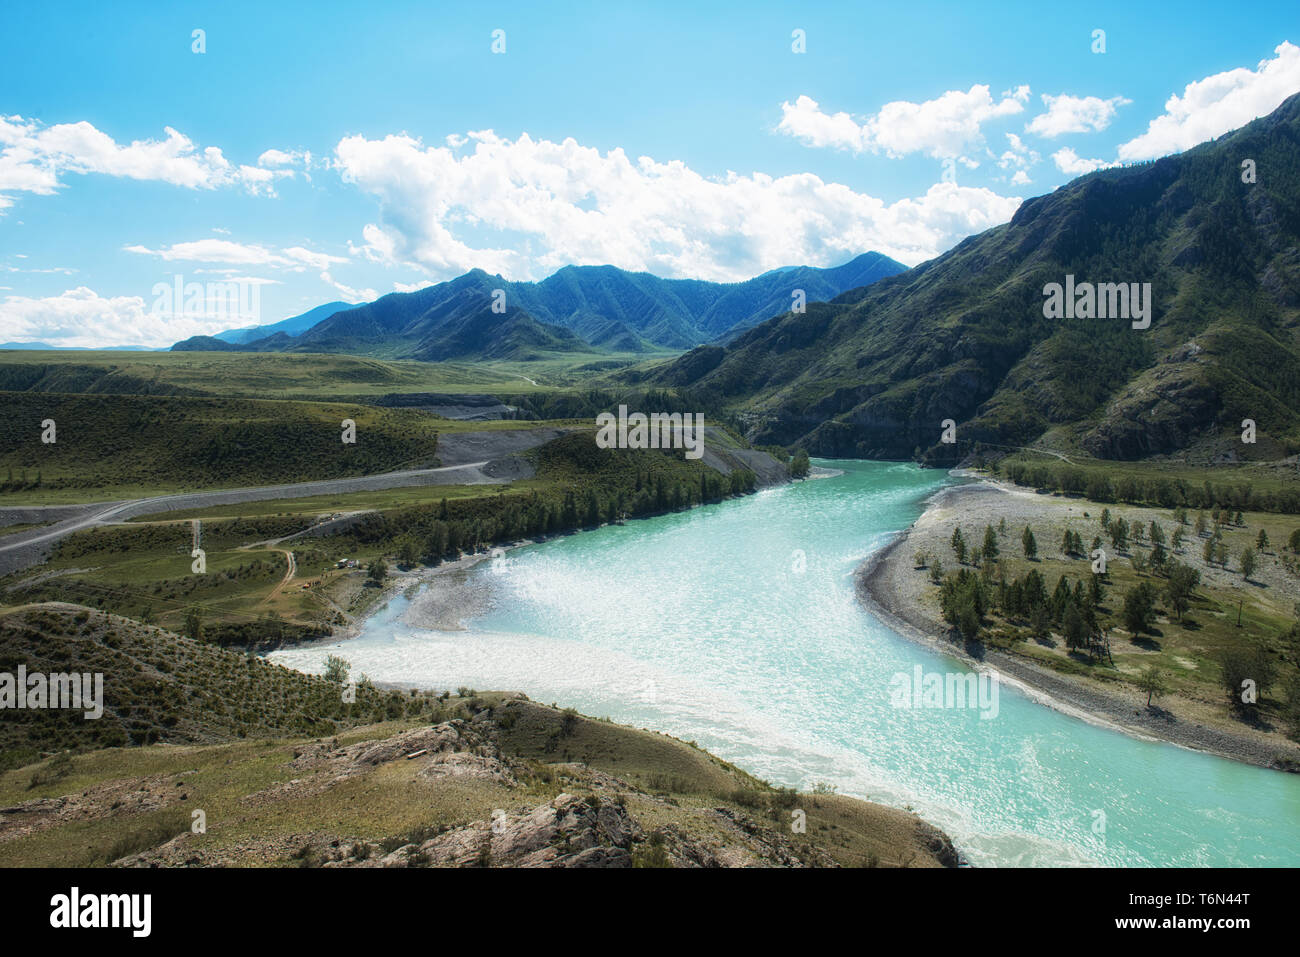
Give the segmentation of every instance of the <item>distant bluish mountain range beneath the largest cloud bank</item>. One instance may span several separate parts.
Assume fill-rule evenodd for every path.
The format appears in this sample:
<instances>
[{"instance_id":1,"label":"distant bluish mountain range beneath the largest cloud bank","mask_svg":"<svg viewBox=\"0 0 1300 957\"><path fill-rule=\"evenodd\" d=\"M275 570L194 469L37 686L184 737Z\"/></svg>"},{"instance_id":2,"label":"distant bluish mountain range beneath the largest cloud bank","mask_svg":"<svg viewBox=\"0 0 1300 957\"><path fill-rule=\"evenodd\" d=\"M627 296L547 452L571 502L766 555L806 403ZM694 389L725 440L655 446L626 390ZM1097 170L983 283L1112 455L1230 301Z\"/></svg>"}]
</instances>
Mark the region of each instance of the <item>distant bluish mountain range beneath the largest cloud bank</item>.
<instances>
[{"instance_id":1,"label":"distant bluish mountain range beneath the largest cloud bank","mask_svg":"<svg viewBox=\"0 0 1300 957\"><path fill-rule=\"evenodd\" d=\"M828 299L904 269L876 252L832 269L796 267L736 283L663 280L611 265L566 267L542 282L510 282L474 269L415 293L391 293L373 303L335 311L309 329L291 334L291 341L250 339L231 345L252 351L419 358L445 351L447 335L468 341L463 328L468 316L520 311L538 325L523 338L541 335L547 348L575 348L581 343L623 352L680 350L788 309L794 290L802 289L810 302ZM498 290L504 293L507 313L484 312ZM556 330L567 330L576 342ZM196 337L173 348L226 348L218 342L213 337ZM517 347L516 341L515 346L493 346L493 350Z\"/></svg>"}]
</instances>

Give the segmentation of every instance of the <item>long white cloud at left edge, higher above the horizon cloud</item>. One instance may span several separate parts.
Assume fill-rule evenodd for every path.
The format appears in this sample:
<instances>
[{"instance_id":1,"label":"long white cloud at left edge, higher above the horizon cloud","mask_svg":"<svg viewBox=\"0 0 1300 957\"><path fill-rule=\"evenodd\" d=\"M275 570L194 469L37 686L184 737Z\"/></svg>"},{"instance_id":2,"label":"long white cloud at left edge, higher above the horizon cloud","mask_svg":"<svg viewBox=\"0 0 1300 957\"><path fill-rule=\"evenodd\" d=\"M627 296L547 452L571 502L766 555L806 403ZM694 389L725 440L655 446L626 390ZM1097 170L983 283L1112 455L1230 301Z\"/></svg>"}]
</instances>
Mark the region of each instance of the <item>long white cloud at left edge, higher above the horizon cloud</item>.
<instances>
[{"instance_id":1,"label":"long white cloud at left edge, higher above the horizon cloud","mask_svg":"<svg viewBox=\"0 0 1300 957\"><path fill-rule=\"evenodd\" d=\"M99 173L191 190L237 186L261 195L273 194L276 179L292 176L292 170L235 165L217 147L200 148L170 126L164 133L164 139L124 146L84 121L43 126L21 116L0 116L0 208L13 204L6 194L55 192L65 174Z\"/></svg>"}]
</instances>

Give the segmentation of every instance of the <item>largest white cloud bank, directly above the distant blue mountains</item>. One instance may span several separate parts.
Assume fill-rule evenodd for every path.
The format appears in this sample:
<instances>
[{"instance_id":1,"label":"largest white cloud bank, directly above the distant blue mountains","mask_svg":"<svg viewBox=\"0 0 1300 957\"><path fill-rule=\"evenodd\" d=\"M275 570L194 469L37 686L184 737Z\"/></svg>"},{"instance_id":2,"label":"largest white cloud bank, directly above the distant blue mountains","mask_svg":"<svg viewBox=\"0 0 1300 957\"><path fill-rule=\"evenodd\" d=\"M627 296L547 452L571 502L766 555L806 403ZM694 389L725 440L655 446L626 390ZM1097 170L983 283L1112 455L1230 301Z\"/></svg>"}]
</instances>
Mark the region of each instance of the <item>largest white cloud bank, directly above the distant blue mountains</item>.
<instances>
[{"instance_id":1,"label":"largest white cloud bank, directly above the distant blue mountains","mask_svg":"<svg viewBox=\"0 0 1300 957\"><path fill-rule=\"evenodd\" d=\"M347 137L343 178L380 202L364 254L439 278L480 267L541 278L567 264L736 281L792 263L826 265L875 250L931 259L1005 222L1019 198L936 183L885 203L811 173L710 178L680 161L601 153L573 139L471 133L472 150L407 135Z\"/></svg>"}]
</instances>

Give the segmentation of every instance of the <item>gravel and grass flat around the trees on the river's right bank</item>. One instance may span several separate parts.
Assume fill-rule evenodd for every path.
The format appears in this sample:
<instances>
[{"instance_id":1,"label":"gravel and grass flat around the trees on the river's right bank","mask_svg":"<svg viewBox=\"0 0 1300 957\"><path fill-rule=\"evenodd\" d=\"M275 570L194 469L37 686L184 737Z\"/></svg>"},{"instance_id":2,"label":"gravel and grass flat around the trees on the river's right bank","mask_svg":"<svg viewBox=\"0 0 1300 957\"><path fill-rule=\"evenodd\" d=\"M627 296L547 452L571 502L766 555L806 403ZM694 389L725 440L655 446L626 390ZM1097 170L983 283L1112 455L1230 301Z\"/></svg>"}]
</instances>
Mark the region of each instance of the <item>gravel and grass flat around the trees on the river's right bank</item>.
<instances>
[{"instance_id":1,"label":"gravel and grass flat around the trees on the river's right bank","mask_svg":"<svg viewBox=\"0 0 1300 957\"><path fill-rule=\"evenodd\" d=\"M1097 515L1105 507L1086 499L1036 494L987 478L944 489L928 502L926 512L910 528L859 567L858 594L874 614L898 633L968 664L993 668L1004 680L1066 714L1139 737L1158 739L1251 765L1292 771L1300 768L1300 745L1286 736L1280 723L1262 722L1251 726L1234 716L1226 705L1226 697L1218 692L1218 685L1206 680L1217 668L1209 650L1195 641L1187 641L1187 633L1174 628L1164 616L1160 625L1167 632L1161 641L1134 640L1134 636L1122 629L1110 628L1114 666L1100 662L1093 664L1082 654L1067 651L1057 633L1043 641L1008 641L1008 629L1000 629L985 641L963 645L944 622L940 589L931 583L930 572L918 567L915 555L928 553L930 557L940 557L946 568L956 570L958 563L950 546L954 525L961 524L966 540L972 547L978 547L984 528L997 528L1005 520L1006 529L1000 534L1002 554L1008 555L1013 550L1017 554L1015 560L1010 562L1013 570L1009 577L1013 573L1019 576L1028 567L1020 558L1020 533L1030 525L1040 542L1043 557L1035 564L1046 579L1050 592L1060 573L1069 575L1071 581L1089 573L1086 560L1071 563L1063 555L1057 557L1058 545L1066 528L1086 529L1086 541L1092 540L1093 528L1105 537L1097 524ZM1130 521L1145 523L1154 518L1173 525L1165 510L1130 506L1110 506L1110 510L1115 515L1124 515ZM1279 521L1294 519L1265 518ZM1253 537L1253 529L1251 534ZM1280 551L1280 545L1278 549ZM1106 550L1110 551L1109 545ZM1196 616L1206 622L1208 633L1213 632L1209 619L1217 619L1213 624L1218 624L1236 614L1236 596L1244 590L1251 592L1245 596L1248 615L1253 610L1257 622L1268 620L1270 611L1283 615L1291 611L1290 606L1280 606L1287 605L1288 596L1295 598L1297 584L1279 562L1265 560L1254 575L1256 581L1242 585L1239 573L1205 567L1199 555L1193 558L1190 554L1192 551L1200 551L1196 536L1178 553L1180 559L1192 563L1202 575L1202 586L1199 589L1201 599L1188 618ZM1112 559L1110 571L1115 586L1110 589L1108 605L1117 609L1122 603L1119 580L1130 581L1136 576L1121 557ZM1249 619L1247 623L1252 624ZM1230 620L1223 628L1228 624ZM1126 681L1145 662L1169 667L1170 672L1166 674L1176 672L1176 684L1169 694L1157 698L1153 707L1147 707L1145 694Z\"/></svg>"}]
</instances>

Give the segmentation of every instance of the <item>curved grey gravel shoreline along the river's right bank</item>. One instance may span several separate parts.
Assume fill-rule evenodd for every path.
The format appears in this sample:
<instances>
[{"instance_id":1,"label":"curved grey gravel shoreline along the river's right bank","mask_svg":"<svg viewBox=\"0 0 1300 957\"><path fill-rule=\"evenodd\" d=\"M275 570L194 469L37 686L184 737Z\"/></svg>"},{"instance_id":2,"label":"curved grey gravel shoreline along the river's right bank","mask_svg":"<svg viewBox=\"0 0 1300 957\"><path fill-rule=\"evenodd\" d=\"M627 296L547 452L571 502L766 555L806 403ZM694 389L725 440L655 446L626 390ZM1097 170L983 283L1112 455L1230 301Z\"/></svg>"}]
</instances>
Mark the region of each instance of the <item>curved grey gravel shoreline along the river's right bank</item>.
<instances>
[{"instance_id":1,"label":"curved grey gravel shoreline along the river's right bank","mask_svg":"<svg viewBox=\"0 0 1300 957\"><path fill-rule=\"evenodd\" d=\"M1186 720L1166 709L1148 710L1136 692L1097 688L1086 679L1063 675L1000 649L982 645L963 648L958 641L949 638L948 624L915 601L915 583L923 576L914 571L906 545L916 525L933 521L936 515L956 508L957 503L967 497L988 494L1032 495L1034 493L1008 490L991 481L941 489L927 501L922 518L858 567L855 583L859 601L904 637L952 655L971 667L993 670L1002 680L1024 690L1031 698L1063 714L1141 740L1165 741L1260 767L1294 770L1278 763L1283 757L1283 749L1275 742L1260 740L1245 732ZM924 583L928 585L928 577Z\"/></svg>"}]
</instances>

